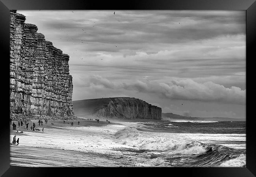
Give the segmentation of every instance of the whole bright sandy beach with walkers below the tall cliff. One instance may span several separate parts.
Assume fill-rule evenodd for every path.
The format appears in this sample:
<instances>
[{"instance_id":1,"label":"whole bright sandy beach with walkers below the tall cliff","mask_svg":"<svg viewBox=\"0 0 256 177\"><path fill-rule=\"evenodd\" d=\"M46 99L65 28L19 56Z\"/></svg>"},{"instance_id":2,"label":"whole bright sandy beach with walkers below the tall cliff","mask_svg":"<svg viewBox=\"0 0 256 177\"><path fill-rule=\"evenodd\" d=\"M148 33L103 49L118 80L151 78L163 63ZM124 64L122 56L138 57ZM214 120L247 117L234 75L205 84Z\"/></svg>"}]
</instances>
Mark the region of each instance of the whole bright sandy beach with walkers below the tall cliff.
<instances>
[{"instance_id":1,"label":"whole bright sandy beach with walkers below the tall cliff","mask_svg":"<svg viewBox=\"0 0 256 177\"><path fill-rule=\"evenodd\" d=\"M48 120L48 124L43 122L43 132L38 120L31 120L28 130L20 127L19 133L12 130L10 125L10 144L14 135L20 138L19 145L10 145L10 164L31 167L141 166L137 162L133 164L132 160L122 160L122 149L131 147L115 143L114 137L118 130L137 121L110 120L108 124L106 120L100 120L99 123L96 120L80 120L78 125L78 120L65 121L65 124L63 120ZM30 130L33 122L35 128L41 131ZM70 126L70 122L74 122L74 126ZM133 153L129 151L127 155Z\"/></svg>"}]
</instances>

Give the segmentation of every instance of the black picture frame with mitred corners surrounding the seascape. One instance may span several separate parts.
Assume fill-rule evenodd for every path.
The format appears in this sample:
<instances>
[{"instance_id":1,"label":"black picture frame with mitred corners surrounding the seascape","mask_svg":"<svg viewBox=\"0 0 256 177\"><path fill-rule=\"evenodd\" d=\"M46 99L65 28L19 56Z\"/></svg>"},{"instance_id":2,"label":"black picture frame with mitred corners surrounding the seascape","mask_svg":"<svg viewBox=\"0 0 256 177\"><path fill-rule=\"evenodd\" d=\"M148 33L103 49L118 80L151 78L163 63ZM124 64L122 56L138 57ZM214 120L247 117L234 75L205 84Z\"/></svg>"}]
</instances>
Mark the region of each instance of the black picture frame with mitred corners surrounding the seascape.
<instances>
[{"instance_id":1,"label":"black picture frame with mitred corners surrounding the seascape","mask_svg":"<svg viewBox=\"0 0 256 177\"><path fill-rule=\"evenodd\" d=\"M9 107L7 106L7 85L9 79L9 10L246 10L246 168L30 168L10 166L9 151ZM255 39L256 39L256 2L255 0L129 0L129 1L102 1L96 0L0 0L0 45L2 64L2 78L4 91L1 93L4 103L0 119L3 124L0 129L0 175L9 176L52 176L53 173L60 175L74 175L77 172L82 175L89 175L98 172L108 173L108 175L136 175L137 171L147 174L159 174L179 176L207 176L207 177L252 177L256 175L256 138L255 121L252 109L255 100L254 87L254 65ZM250 79L252 81L250 81ZM249 91L249 93L248 93ZM6 96L6 97L3 97ZM163 173L164 170L164 173ZM91 175L93 175L91 174Z\"/></svg>"}]
</instances>

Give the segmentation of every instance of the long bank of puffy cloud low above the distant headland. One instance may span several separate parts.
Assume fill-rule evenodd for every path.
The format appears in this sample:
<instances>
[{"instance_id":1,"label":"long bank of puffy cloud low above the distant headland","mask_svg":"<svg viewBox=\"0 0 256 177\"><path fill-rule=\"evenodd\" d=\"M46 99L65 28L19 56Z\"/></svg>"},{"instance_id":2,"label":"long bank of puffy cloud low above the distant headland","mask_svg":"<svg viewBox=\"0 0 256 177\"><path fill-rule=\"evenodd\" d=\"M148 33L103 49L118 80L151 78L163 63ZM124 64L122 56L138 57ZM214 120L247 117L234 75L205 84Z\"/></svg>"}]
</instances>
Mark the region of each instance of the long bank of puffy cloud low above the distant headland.
<instances>
[{"instance_id":1,"label":"long bank of puffy cloud low above the distant headland","mask_svg":"<svg viewBox=\"0 0 256 177\"><path fill-rule=\"evenodd\" d=\"M105 89L134 90L142 93L154 93L170 100L197 100L230 104L245 104L246 90L239 87L226 88L211 81L197 83L192 79L173 79L168 83L136 80L130 83L111 82L101 76L91 76L91 84L101 85Z\"/></svg>"}]
</instances>

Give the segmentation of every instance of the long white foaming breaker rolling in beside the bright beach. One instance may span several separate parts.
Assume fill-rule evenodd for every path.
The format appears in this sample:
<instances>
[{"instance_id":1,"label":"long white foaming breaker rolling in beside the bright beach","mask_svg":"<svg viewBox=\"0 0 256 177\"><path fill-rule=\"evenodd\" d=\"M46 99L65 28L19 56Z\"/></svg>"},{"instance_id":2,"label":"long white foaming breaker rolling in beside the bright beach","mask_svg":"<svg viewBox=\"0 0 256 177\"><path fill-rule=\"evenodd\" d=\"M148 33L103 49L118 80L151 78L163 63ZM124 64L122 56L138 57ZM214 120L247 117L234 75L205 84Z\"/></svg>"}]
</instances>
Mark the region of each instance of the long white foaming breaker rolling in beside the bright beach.
<instances>
[{"instance_id":1,"label":"long white foaming breaker rolling in beside the bright beach","mask_svg":"<svg viewBox=\"0 0 256 177\"><path fill-rule=\"evenodd\" d=\"M138 131L139 126L126 127L117 133L116 142L148 151L169 151L170 153L198 155L209 151L211 145L191 140L179 141Z\"/></svg>"}]
</instances>

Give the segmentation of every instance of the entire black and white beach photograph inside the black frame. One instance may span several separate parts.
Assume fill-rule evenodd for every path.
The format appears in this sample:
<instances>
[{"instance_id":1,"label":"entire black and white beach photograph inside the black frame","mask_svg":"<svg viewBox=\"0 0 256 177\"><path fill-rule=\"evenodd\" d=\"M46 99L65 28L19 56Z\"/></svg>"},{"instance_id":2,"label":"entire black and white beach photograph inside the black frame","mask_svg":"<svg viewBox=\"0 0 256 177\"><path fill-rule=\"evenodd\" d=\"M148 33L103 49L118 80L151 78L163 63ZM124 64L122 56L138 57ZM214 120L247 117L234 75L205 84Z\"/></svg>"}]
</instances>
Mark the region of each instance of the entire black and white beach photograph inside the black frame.
<instances>
[{"instance_id":1,"label":"entire black and white beach photograph inside the black frame","mask_svg":"<svg viewBox=\"0 0 256 177\"><path fill-rule=\"evenodd\" d=\"M246 11L10 10L10 165L246 167Z\"/></svg>"}]
</instances>

